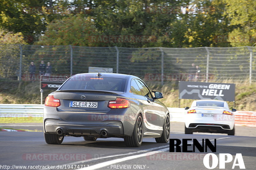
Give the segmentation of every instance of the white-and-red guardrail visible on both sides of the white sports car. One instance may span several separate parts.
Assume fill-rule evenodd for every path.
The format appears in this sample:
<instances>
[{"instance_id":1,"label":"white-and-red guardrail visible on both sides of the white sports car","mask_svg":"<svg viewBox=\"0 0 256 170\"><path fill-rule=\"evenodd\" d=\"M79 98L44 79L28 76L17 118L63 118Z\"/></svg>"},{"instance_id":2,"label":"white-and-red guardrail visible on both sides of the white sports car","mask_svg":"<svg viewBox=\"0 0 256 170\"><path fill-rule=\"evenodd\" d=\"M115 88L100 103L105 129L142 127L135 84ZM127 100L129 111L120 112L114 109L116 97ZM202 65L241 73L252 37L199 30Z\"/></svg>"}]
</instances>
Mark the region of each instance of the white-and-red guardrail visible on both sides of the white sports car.
<instances>
[{"instance_id":1,"label":"white-and-red guardrail visible on both sides of the white sports car","mask_svg":"<svg viewBox=\"0 0 256 170\"><path fill-rule=\"evenodd\" d=\"M170 111L171 122L184 122L186 111L184 108L168 108ZM256 112L255 111L236 111L235 125L236 126L251 126L256 127Z\"/></svg>"}]
</instances>

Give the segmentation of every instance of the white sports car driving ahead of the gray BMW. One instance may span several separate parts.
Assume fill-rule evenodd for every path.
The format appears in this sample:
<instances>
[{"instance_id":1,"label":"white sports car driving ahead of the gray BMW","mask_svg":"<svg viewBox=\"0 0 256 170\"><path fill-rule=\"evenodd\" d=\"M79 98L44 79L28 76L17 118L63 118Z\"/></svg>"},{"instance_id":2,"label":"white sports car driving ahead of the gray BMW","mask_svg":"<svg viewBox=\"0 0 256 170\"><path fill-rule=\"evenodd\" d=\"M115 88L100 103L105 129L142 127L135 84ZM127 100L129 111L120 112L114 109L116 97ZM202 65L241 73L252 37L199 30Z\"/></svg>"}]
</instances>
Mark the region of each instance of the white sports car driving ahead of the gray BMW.
<instances>
[{"instance_id":1,"label":"white sports car driving ahead of the gray BMW","mask_svg":"<svg viewBox=\"0 0 256 170\"><path fill-rule=\"evenodd\" d=\"M235 135L236 109L229 110L228 103L221 100L195 100L185 107L185 134L193 132L228 133Z\"/></svg>"}]
</instances>

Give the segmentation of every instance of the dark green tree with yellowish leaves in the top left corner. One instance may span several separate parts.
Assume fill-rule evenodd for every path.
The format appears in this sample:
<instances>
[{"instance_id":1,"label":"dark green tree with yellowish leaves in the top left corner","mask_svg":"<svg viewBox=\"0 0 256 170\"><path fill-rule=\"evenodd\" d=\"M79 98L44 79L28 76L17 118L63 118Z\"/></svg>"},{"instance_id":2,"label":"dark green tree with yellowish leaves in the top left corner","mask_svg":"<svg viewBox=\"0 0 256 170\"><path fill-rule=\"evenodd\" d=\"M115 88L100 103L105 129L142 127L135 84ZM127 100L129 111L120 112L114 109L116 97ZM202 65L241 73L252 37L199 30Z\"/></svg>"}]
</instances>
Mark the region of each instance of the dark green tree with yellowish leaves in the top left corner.
<instances>
[{"instance_id":1,"label":"dark green tree with yellowish leaves in the top left corner","mask_svg":"<svg viewBox=\"0 0 256 170\"><path fill-rule=\"evenodd\" d=\"M2 0L0 3L0 28L13 33L22 32L27 42L44 31L46 22L42 6L47 0Z\"/></svg>"}]
</instances>

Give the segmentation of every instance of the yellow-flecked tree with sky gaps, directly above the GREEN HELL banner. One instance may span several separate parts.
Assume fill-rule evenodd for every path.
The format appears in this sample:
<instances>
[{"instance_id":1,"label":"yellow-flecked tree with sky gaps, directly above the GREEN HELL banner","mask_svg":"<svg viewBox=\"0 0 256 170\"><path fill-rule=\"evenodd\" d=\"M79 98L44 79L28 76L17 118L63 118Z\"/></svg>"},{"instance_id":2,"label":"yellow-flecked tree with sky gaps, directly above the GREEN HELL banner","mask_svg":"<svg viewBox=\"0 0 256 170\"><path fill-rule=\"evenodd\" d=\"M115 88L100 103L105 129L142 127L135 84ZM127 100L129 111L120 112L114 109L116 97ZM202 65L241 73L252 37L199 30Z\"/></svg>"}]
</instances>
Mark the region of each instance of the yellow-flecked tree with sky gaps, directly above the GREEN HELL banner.
<instances>
[{"instance_id":1,"label":"yellow-flecked tree with sky gaps, directly above the GREEN HELL banner","mask_svg":"<svg viewBox=\"0 0 256 170\"><path fill-rule=\"evenodd\" d=\"M191 1L188 15L180 21L187 28L182 46L229 46L223 39L229 31L224 11L225 4L220 0Z\"/></svg>"}]
</instances>

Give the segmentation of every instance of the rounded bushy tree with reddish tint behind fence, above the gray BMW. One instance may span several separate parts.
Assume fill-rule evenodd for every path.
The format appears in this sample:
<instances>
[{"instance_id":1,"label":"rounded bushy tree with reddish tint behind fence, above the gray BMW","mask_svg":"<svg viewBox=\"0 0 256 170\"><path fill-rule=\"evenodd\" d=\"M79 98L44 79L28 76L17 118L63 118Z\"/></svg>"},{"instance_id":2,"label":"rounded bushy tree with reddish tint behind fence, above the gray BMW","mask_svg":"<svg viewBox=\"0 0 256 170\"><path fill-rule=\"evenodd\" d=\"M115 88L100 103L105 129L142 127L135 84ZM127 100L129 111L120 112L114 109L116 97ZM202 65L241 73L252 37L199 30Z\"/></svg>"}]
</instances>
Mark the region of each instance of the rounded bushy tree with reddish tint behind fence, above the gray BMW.
<instances>
[{"instance_id":1,"label":"rounded bushy tree with reddish tint behind fence, above the gray BMW","mask_svg":"<svg viewBox=\"0 0 256 170\"><path fill-rule=\"evenodd\" d=\"M93 41L98 32L90 18L69 16L53 20L47 25L41 40L36 45L46 46L97 46Z\"/></svg>"}]
</instances>

